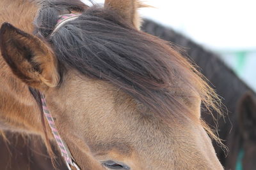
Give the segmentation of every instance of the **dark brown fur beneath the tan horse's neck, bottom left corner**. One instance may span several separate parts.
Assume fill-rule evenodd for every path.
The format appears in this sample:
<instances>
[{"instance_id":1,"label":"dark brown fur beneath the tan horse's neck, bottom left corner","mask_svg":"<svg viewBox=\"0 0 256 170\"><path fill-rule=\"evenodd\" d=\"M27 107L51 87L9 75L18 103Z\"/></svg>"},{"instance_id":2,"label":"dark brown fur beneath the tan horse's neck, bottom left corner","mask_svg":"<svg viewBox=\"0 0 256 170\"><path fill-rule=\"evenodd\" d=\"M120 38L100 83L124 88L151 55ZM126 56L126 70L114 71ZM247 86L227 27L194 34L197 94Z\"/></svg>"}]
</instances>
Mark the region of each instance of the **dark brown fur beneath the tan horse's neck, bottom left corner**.
<instances>
[{"instance_id":1,"label":"dark brown fur beneath the tan horse's neck, bottom left corner","mask_svg":"<svg viewBox=\"0 0 256 170\"><path fill-rule=\"evenodd\" d=\"M47 153L40 136L24 136L15 132L6 132L6 143L0 136L0 167L3 170L50 170L54 169L51 157ZM58 148L53 147L58 153ZM57 169L66 170L61 155L56 157Z\"/></svg>"}]
</instances>

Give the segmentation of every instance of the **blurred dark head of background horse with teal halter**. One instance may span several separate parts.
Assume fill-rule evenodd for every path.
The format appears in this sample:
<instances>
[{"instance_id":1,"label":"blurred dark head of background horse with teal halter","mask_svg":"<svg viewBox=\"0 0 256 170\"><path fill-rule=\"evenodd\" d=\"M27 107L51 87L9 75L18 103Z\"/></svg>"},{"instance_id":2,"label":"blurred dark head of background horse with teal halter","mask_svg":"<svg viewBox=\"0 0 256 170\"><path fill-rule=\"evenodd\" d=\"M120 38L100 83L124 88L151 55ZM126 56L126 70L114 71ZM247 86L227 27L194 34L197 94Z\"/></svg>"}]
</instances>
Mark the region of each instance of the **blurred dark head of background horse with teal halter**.
<instances>
[{"instance_id":1,"label":"blurred dark head of background horse with teal halter","mask_svg":"<svg viewBox=\"0 0 256 170\"><path fill-rule=\"evenodd\" d=\"M255 169L256 158L256 97L252 92L244 94L237 103L234 120L237 125L227 139L230 148L228 156L229 167L239 169Z\"/></svg>"}]
</instances>

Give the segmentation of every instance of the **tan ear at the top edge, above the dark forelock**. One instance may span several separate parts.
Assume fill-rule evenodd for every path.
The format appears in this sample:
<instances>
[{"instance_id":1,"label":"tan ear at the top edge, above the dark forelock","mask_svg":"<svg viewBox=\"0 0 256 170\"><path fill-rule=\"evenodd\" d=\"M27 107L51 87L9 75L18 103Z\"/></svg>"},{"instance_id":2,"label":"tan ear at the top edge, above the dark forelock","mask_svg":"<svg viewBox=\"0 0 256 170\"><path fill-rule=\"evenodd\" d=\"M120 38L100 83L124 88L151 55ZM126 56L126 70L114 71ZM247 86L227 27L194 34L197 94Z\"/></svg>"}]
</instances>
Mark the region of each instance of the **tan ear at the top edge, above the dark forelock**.
<instances>
[{"instance_id":1,"label":"tan ear at the top edge, above the dark forelock","mask_svg":"<svg viewBox=\"0 0 256 170\"><path fill-rule=\"evenodd\" d=\"M140 30L141 18L138 15L138 8L147 7L139 0L105 0L105 7L115 10L129 24Z\"/></svg>"}]
</instances>

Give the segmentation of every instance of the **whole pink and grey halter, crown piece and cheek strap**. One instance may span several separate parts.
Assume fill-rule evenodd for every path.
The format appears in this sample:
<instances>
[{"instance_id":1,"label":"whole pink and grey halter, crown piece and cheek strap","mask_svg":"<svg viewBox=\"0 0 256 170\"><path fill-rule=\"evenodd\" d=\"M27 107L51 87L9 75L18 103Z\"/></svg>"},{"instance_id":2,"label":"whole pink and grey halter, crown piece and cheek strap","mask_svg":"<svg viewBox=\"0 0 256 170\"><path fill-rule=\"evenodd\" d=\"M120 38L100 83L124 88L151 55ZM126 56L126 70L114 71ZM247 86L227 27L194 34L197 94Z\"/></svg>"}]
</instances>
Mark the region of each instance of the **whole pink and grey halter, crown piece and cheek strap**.
<instances>
[{"instance_id":1,"label":"whole pink and grey halter, crown piece and cheek strap","mask_svg":"<svg viewBox=\"0 0 256 170\"><path fill-rule=\"evenodd\" d=\"M80 16L80 14L74 14L74 13L61 15L60 19L58 20L58 24L56 25L54 31L52 31L51 36L56 31L58 31L58 29L60 29L61 26L66 24L68 21L75 20L79 16ZM44 94L42 94L42 92L40 92L40 96L41 96L41 101L42 101L42 106L43 106L43 111L44 111L45 118L47 119L47 122L51 127L52 134L53 134L53 136L56 140L56 143L57 143L58 147L60 148L61 155L62 155L62 157L64 158L64 160L67 164L68 170L72 170L70 166L73 166L77 170L80 170L79 166L77 166L77 164L76 164L76 161L72 157L72 155L70 153L70 150L68 149L68 146L66 145L66 143L60 137L58 129L56 128L56 125L55 125L54 120L52 118L51 112L47 108L45 96L44 96Z\"/></svg>"}]
</instances>

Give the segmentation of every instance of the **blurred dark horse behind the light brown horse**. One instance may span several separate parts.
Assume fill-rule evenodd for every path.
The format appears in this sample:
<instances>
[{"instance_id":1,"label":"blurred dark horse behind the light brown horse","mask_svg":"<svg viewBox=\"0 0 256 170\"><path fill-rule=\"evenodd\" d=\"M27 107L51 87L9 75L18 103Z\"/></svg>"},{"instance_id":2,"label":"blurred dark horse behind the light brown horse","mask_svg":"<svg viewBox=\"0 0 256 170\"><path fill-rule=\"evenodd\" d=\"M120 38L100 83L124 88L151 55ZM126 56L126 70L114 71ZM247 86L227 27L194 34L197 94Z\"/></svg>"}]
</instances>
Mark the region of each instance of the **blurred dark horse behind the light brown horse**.
<instances>
[{"instance_id":1,"label":"blurred dark horse behind the light brown horse","mask_svg":"<svg viewBox=\"0 0 256 170\"><path fill-rule=\"evenodd\" d=\"M225 65L219 55L196 44L186 36L151 20L145 20L142 29L149 34L182 46L183 48L180 49L183 50L182 53L200 67L217 94L222 97L223 110L227 109L228 115L227 118L218 120L218 134L223 139L224 145L227 146L228 152L216 143L214 148L225 169L236 169L236 167L239 169L237 166L239 159L243 169L255 169L256 165L253 162L256 159L256 140L254 137L248 139L248 136L254 136L255 126L250 124L248 127L246 125L248 123L245 123L255 120L255 92ZM204 108L202 108L202 117L212 127L215 126L214 120L211 116L209 117ZM241 122L242 120L243 122ZM242 148L244 151L241 150ZM239 158L241 152L244 152L244 155L242 154L243 157Z\"/></svg>"}]
</instances>

